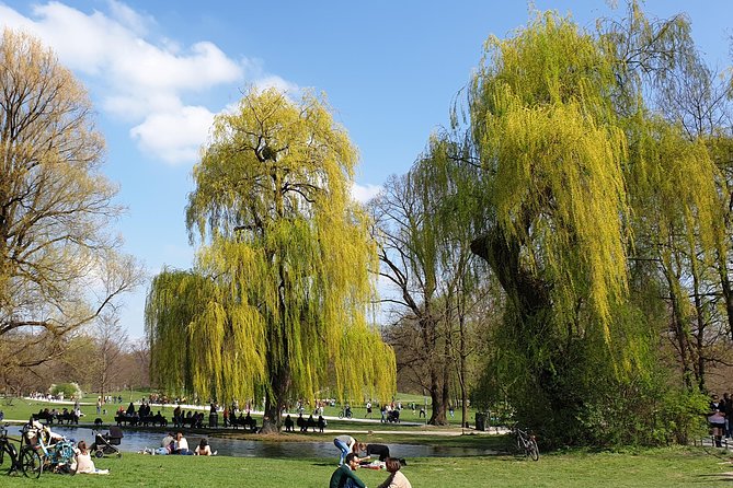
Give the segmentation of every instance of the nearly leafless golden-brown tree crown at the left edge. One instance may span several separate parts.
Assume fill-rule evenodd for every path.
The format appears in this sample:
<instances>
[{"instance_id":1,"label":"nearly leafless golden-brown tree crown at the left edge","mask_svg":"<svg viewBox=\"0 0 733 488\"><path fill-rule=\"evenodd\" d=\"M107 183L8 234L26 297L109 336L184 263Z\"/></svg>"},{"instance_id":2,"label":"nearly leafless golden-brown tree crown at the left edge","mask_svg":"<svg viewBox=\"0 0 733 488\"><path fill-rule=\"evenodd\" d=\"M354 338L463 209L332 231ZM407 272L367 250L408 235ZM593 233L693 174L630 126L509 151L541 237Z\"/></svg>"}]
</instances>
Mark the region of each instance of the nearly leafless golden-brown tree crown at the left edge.
<instances>
[{"instance_id":1,"label":"nearly leafless golden-brown tree crown at the left edge","mask_svg":"<svg viewBox=\"0 0 733 488\"><path fill-rule=\"evenodd\" d=\"M0 336L14 352L3 367L55 357L61 336L140 280L106 232L122 209L100 173L103 148L83 86L36 39L3 31Z\"/></svg>"}]
</instances>

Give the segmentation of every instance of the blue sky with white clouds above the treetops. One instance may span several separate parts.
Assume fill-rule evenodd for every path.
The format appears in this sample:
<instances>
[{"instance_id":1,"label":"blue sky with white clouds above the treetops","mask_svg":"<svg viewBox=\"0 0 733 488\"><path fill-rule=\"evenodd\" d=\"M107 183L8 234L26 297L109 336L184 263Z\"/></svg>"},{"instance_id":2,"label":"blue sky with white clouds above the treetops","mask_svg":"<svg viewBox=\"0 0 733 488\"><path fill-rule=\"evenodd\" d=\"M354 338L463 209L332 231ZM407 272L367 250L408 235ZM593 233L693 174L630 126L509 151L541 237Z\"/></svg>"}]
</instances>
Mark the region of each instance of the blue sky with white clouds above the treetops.
<instances>
[{"instance_id":1,"label":"blue sky with white clouds above the treetops","mask_svg":"<svg viewBox=\"0 0 733 488\"><path fill-rule=\"evenodd\" d=\"M619 2L622 4L622 2ZM535 1L593 28L607 2ZM733 2L645 2L650 15L687 12L709 62L731 66ZM128 212L116 226L152 276L191 267L184 225L191 167L211 117L248 84L323 91L359 148L354 195L365 199L408 171L490 34L528 19L525 1L57 1L0 0L0 25L53 47L88 86L107 141L107 176ZM617 11L616 14L620 14ZM123 325L142 336L146 287Z\"/></svg>"}]
</instances>

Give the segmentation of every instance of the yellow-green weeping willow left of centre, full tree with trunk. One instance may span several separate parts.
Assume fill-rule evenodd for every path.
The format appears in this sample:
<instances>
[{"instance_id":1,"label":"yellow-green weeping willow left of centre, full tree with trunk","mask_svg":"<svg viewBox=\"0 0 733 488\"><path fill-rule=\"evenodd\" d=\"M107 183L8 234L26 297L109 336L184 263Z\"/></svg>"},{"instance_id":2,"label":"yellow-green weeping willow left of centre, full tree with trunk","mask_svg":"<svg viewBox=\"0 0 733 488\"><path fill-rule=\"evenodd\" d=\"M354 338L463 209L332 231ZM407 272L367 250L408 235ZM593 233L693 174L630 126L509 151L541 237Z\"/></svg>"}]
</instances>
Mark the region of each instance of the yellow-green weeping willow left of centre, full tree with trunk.
<instances>
[{"instance_id":1,"label":"yellow-green weeping willow left of centre, full tree with trunk","mask_svg":"<svg viewBox=\"0 0 733 488\"><path fill-rule=\"evenodd\" d=\"M219 402L288 402L333 385L387 399L394 355L366 322L376 247L350 198L356 151L323 102L251 90L217 117L194 167L186 223L207 245L191 272L163 271L146 316L152 374Z\"/></svg>"}]
</instances>

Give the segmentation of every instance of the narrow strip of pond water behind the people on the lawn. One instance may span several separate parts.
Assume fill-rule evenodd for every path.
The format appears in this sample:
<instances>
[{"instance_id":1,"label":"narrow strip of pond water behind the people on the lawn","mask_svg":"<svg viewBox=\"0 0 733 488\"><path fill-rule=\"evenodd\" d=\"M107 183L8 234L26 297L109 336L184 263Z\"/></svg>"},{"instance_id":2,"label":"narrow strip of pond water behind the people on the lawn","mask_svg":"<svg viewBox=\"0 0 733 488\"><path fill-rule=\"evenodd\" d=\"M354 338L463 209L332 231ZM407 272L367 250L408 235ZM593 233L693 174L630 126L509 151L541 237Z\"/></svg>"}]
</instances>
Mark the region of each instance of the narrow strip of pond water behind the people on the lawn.
<instances>
[{"instance_id":1,"label":"narrow strip of pond water behind the people on the lawn","mask_svg":"<svg viewBox=\"0 0 733 488\"><path fill-rule=\"evenodd\" d=\"M13 438L20 437L20 426L10 426L8 434ZM87 441L88 445L94 442L94 431L84 427L51 426L51 430L67 438L78 441ZM106 432L103 430L102 432ZM142 430L123 430L125 437L121 445L122 452L139 452L145 448L159 448L163 439L161 432L147 432ZM186 435L188 446L193 450L202 439L201 434ZM211 451L218 451L222 456L237 457L308 457L337 460L339 450L333 442L275 442L275 441L248 441L238 439L218 439L207 437ZM474 448L445 448L421 444L389 444L390 453L397 457L455 457L455 456L479 456L495 455L495 451Z\"/></svg>"}]
</instances>

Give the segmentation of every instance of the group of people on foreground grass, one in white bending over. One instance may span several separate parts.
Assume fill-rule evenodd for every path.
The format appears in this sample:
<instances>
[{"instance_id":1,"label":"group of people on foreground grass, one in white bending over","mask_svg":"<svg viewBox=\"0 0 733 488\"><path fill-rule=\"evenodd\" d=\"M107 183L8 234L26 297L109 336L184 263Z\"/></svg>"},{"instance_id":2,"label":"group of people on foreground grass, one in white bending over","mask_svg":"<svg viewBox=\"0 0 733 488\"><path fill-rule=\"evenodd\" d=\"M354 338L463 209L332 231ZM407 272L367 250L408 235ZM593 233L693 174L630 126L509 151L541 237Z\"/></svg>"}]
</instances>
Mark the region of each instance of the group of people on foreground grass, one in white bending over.
<instances>
[{"instance_id":1,"label":"group of people on foreground grass, one in white bending over","mask_svg":"<svg viewBox=\"0 0 733 488\"><path fill-rule=\"evenodd\" d=\"M339 467L331 475L329 488L366 488L355 474L360 467L383 468L389 472L389 476L378 488L412 488L406 476L400 472L406 462L391 457L388 445L357 442L348 434L336 437L333 444L339 449L340 457ZM359 457L359 453L365 455Z\"/></svg>"}]
</instances>

